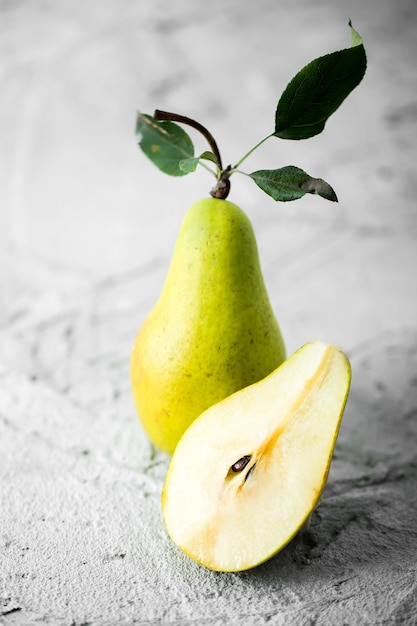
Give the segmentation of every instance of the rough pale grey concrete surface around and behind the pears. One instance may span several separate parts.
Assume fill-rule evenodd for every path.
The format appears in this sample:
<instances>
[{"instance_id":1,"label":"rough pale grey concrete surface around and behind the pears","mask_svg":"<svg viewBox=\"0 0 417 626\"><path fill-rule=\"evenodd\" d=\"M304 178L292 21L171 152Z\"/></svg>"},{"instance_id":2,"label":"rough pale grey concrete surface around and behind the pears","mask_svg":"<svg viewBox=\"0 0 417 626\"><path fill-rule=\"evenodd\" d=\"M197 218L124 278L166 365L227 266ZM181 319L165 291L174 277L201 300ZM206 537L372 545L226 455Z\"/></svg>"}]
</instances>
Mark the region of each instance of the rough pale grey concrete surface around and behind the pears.
<instances>
[{"instance_id":1,"label":"rough pale grey concrete surface around and behind the pears","mask_svg":"<svg viewBox=\"0 0 417 626\"><path fill-rule=\"evenodd\" d=\"M416 16L414 0L0 3L3 626L417 623ZM276 205L237 176L231 199L254 223L289 352L337 343L352 393L311 532L216 574L166 536L168 458L128 380L179 223L211 180L160 174L135 112L196 117L237 160L295 72L348 45L349 18L363 84L322 135L247 162L303 167L339 204Z\"/></svg>"}]
</instances>

